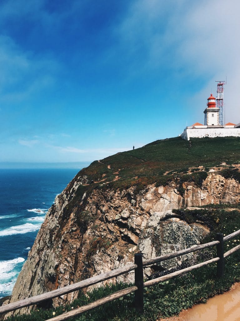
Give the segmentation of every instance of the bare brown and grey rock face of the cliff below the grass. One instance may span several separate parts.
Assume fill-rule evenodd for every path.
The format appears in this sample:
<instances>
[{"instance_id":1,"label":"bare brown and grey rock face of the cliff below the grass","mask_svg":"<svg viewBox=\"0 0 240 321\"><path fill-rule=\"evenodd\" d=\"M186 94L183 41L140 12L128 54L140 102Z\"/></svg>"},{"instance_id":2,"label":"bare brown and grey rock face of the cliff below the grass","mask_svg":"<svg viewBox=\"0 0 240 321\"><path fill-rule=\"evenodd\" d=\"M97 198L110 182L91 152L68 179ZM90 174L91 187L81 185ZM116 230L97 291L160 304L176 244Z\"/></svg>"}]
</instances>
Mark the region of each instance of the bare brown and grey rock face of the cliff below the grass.
<instances>
[{"instance_id":1,"label":"bare brown and grey rock face of the cliff below the grass","mask_svg":"<svg viewBox=\"0 0 240 321\"><path fill-rule=\"evenodd\" d=\"M208 228L203 222L188 224L172 209L239 202L239 183L221 176L220 169L208 172L200 187L183 182L181 193L177 179L166 186L150 184L142 190L136 186L95 189L80 172L49 209L11 302L131 264L138 251L148 259L199 244ZM163 262L162 266L178 264L181 259ZM145 276L152 272L145 269ZM129 273L116 281L132 281L133 277ZM51 303L57 306L76 296L76 292L69 293Z\"/></svg>"}]
</instances>

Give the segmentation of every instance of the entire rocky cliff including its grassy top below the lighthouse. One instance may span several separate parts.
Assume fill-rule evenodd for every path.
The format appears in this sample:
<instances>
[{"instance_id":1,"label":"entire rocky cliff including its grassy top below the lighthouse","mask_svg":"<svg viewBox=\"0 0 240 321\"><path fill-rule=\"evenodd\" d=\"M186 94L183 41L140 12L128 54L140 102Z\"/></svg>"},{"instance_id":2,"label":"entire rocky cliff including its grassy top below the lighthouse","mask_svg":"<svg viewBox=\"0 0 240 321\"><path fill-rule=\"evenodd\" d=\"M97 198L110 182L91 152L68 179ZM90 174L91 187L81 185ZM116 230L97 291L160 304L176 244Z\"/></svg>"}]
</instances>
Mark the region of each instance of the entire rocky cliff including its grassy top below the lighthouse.
<instances>
[{"instance_id":1,"label":"entire rocky cliff including its grassy top below the lighthouse","mask_svg":"<svg viewBox=\"0 0 240 321\"><path fill-rule=\"evenodd\" d=\"M188 224L172 209L239 202L238 150L236 138L170 139L82 169L49 209L11 302L129 264L138 251L147 259L199 244L209 227ZM180 264L174 259L158 268ZM145 269L145 277L153 272Z\"/></svg>"}]
</instances>

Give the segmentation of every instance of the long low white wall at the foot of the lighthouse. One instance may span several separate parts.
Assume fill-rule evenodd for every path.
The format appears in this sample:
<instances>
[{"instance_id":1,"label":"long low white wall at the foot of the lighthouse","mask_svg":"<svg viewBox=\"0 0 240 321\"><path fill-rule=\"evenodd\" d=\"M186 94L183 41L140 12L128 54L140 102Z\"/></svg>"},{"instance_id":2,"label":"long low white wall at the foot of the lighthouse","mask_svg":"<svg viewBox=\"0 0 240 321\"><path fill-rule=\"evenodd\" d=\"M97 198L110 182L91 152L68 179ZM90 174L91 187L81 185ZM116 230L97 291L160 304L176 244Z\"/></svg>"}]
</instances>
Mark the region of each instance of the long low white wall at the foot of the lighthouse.
<instances>
[{"instance_id":1,"label":"long low white wall at the foot of the lighthouse","mask_svg":"<svg viewBox=\"0 0 240 321\"><path fill-rule=\"evenodd\" d=\"M240 128L193 128L185 129L181 137L185 140L190 138L204 138L204 137L240 137Z\"/></svg>"}]
</instances>

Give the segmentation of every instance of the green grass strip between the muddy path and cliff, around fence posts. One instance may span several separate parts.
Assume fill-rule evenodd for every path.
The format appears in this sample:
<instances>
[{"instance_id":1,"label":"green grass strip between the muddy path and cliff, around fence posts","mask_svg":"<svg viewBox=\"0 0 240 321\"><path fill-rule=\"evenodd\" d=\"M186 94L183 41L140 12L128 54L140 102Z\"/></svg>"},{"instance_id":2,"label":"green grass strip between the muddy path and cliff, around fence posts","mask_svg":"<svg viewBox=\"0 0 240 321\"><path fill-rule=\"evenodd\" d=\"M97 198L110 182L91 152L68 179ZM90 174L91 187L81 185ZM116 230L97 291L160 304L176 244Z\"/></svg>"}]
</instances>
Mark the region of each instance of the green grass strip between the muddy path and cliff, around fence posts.
<instances>
[{"instance_id":1,"label":"green grass strip between the muddy path and cliff, around fence posts","mask_svg":"<svg viewBox=\"0 0 240 321\"><path fill-rule=\"evenodd\" d=\"M209 297L228 290L233 282L240 281L240 255L235 254L226 259L225 277L216 278L216 264L197 269L181 277L161 282L144 291L144 314L139 316L133 306L134 294L107 303L70 320L76 321L135 321L156 320L158 316L169 317L179 314L182 309L192 307L195 303L205 303ZM131 285L131 284L130 284ZM89 293L89 298L79 295L71 305L65 308L32 311L30 315L9 318L8 321L43 321L59 315L71 308L90 303L115 291L127 287L127 284L110 285Z\"/></svg>"}]
</instances>

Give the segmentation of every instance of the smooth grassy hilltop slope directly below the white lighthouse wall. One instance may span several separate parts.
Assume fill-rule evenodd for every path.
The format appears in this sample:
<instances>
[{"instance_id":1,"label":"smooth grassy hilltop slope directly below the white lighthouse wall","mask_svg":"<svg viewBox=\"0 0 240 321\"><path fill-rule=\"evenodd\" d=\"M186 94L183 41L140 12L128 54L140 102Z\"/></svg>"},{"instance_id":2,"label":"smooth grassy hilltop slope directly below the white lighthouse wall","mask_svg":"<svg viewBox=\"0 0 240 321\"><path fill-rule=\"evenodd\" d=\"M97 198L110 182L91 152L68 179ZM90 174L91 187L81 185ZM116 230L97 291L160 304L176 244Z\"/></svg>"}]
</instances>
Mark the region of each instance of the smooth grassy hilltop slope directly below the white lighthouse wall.
<instances>
[{"instance_id":1,"label":"smooth grassy hilltop slope directly below the white lighthouse wall","mask_svg":"<svg viewBox=\"0 0 240 321\"><path fill-rule=\"evenodd\" d=\"M112 181L109 186L113 188L135 186L156 182L167 171L172 174L171 171L185 172L189 167L238 163L239 152L240 139L235 137L194 138L191 141L175 137L94 161L80 173L94 182L106 174L105 182ZM119 179L114 181L116 172Z\"/></svg>"}]
</instances>

